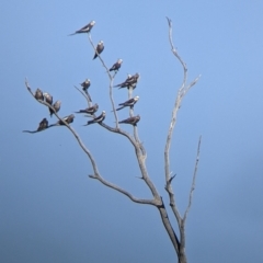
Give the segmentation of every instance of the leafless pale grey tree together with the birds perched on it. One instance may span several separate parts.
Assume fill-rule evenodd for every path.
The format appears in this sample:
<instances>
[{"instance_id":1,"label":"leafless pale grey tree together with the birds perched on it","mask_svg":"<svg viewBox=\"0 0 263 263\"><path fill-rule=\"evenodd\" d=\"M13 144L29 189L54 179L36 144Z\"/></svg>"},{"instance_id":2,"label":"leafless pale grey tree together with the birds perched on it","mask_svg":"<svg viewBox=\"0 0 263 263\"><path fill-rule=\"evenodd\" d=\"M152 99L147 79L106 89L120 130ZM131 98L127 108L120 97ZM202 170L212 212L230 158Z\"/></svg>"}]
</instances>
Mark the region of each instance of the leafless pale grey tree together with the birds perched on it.
<instances>
[{"instance_id":1,"label":"leafless pale grey tree together with the birds perched on it","mask_svg":"<svg viewBox=\"0 0 263 263\"><path fill-rule=\"evenodd\" d=\"M169 25L169 42L171 45L171 50L172 54L174 55L174 57L179 60L179 62L182 65L183 67L183 81L182 84L178 91L178 95L175 98L175 102L173 105L173 110L172 110L172 118L171 118L171 123L169 125L169 130L168 130L168 136L167 136L167 141L165 141L165 147L164 147L164 178L165 178L165 191L169 195L169 199L170 199L170 207L172 209L172 213L174 215L175 221L178 224L178 228L179 228L179 233L175 232L175 230L172 227L172 224L169 219L168 216L168 208L165 207L165 204L162 199L162 197L160 196L160 194L158 193L155 184L152 183L148 171L147 171L147 165L146 165L146 159L147 159L147 152L146 149L144 147L144 145L141 144L140 139L139 139L139 135L138 135L138 127L137 127L137 123L140 121L139 115L135 116L134 115L134 104L137 102L138 98L134 98L133 99L133 90L135 89L137 81L139 79L139 75L136 73L135 76L128 76L127 80L125 80L123 83L118 84L117 87L119 88L127 88L128 90L128 101L119 104L121 107L116 108L116 105L114 103L114 99L113 99L113 83L114 83L114 78L117 73L117 70L121 68L122 65L122 59L119 59L112 68L108 68L106 66L106 64L104 62L104 60L101 57L101 53L103 50L103 43L100 42L98 46L95 46L92 42L91 38L91 28L94 25L94 21L92 21L90 24L88 24L87 26L82 27L80 31L77 31L75 34L78 33L87 33L88 37L89 37L89 42L91 44L91 46L94 49L94 58L99 58L101 60L102 66L105 68L107 76L108 76L108 82L110 82L110 87L108 87L108 91L110 91L110 100L111 100L111 104L112 104L112 110L113 110L113 114L114 114L114 118L115 118L115 126L108 126L106 125L103 121L105 118L105 112L103 111L101 115L95 115L95 112L98 111L98 105L96 104L92 104L92 99L91 95L89 94L88 88L90 85L90 80L85 80L81 85L83 88L83 91L80 90L78 87L75 87L87 100L88 103L88 108L85 110L81 110L79 111L79 113L87 113L89 114L89 116L91 117L91 121L88 122L87 125L92 124L92 123L98 123L101 127L107 129L111 133L115 133L118 134L121 136L126 137L132 147L135 149L135 155L136 155L136 159L140 169L140 173L141 173L141 180L146 183L146 185L149 187L152 197L151 198L141 198L141 197L136 197L134 196L132 193L129 193L127 190L119 187L116 184L113 184L112 182L108 182L105 178L102 176L102 174L99 171L99 167L96 164L96 161L94 159L94 157L92 156L91 151L89 150L89 148L82 142L81 138L79 137L79 135L76 133L76 130L70 126L70 123L73 122L75 115L70 114L66 117L60 117L58 115L58 111L60 107L60 103L59 103L59 107L57 106L57 102L53 103L53 98L48 94L48 93L42 93L42 91L39 89L36 90L35 93L33 93L30 83L27 80L25 80L25 85L27 88L27 90L30 91L30 93L43 105L47 106L49 108L49 112L52 114L54 114L58 121L52 125L48 125L48 122L46 118L43 118L43 121L39 123L39 126L36 130L24 130L25 133L39 133L43 132L47 128L54 127L54 126L65 126L67 127L71 134L75 136L76 140L78 141L80 148L84 151L84 153L87 155L89 161L91 162L92 165L92 170L93 170L93 174L90 174L90 179L94 179L100 181L102 184L104 184L107 187L111 187L115 191L118 191L119 193L126 195L130 201L138 203L138 204L145 204L145 205L151 205L155 206L159 213L160 213L160 217L162 219L162 224L169 235L169 238L173 244L173 248L175 250L175 253L178 255L178 261L180 263L186 263L187 259L186 259L186 253L185 253L185 222L186 222L186 218L187 218L187 214L190 211L191 205L192 205L192 198L193 198L193 192L195 188L195 179L196 179L196 173L197 173L197 167L198 167L198 160L199 160L199 148L201 148L201 137L198 140L198 146L197 146L197 153L196 153L196 160L195 160L195 165L194 165L194 171L193 171L193 181L192 181L192 185L190 188L190 193L188 193L188 202L187 202L187 206L185 208L185 211L181 215L178 206L176 206L176 202L175 202L175 195L173 192L173 187L172 187L172 181L174 179L175 175L172 174L171 170L170 170L170 148L171 148L171 142L172 142L172 135L173 135L173 130L176 124L176 116L178 116L178 112L180 108L180 105L182 103L182 100L184 99L184 96L186 95L187 91L195 85L195 83L198 81L199 77L198 76L194 81L192 81L191 83L187 84L187 68L186 68L186 64L182 60L182 58L180 57L180 55L178 54L178 50L175 49L174 45L173 45L173 41L172 41L172 22L169 18L167 18L168 20L168 25ZM112 73L113 71L113 73ZM48 99L48 100L47 100ZM117 115L117 111L128 106L129 107L129 118L124 119L122 122L119 122L118 119L118 115ZM130 124L134 127L134 133L133 135L123 130L119 127L119 123L126 123L126 124Z\"/></svg>"}]
</instances>

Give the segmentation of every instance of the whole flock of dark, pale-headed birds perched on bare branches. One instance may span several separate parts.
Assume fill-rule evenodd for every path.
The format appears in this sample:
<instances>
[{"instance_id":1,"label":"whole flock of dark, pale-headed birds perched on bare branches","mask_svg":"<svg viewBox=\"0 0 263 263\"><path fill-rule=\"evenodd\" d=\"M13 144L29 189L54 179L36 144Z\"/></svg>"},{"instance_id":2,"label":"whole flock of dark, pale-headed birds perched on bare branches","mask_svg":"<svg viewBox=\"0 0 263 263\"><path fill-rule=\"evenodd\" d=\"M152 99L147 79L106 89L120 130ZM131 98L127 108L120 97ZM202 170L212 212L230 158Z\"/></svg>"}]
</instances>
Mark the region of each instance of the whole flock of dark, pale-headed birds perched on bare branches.
<instances>
[{"instance_id":1,"label":"whole flock of dark, pale-headed birds perched on bare branches","mask_svg":"<svg viewBox=\"0 0 263 263\"><path fill-rule=\"evenodd\" d=\"M70 34L70 35L75 35L75 34L80 34L80 33L90 33L91 28L94 26L95 24L95 21L91 21L89 24L87 24L85 26L83 26L82 28L76 31L75 33ZM103 44L103 41L100 41L99 44L96 45L96 48L95 48L95 55L93 57L93 59L95 59L104 49L104 44ZM110 71L118 71L122 67L122 62L123 60L122 59L118 59L111 68L110 68ZM118 88L118 89L123 89L123 88L127 88L127 89L135 89L136 85L137 85L137 82L139 80L139 75L138 73L135 73L134 76L132 75L128 75L127 79L115 85L115 88ZM85 94L88 95L88 99L90 102L92 102L90 95L89 95L89 92L88 92L88 89L90 88L91 85L91 81L90 79L85 79L85 81L83 81L81 83L81 87L82 87L82 90L85 92ZM47 93L47 92L43 92L41 89L36 89L35 91L35 94L34 94L35 99L38 100L38 101L44 101L46 102L48 105L50 105L50 107L48 107L49 110L49 114L50 114L50 117L53 116L54 113L58 113L58 111L60 110L60 105L61 105L61 102L60 101L56 101L54 104L53 104L53 96ZM133 108L134 105L138 102L139 100L139 96L135 96L133 99L129 99L123 103L119 103L118 106L116 108L116 111L119 111L124 107L130 107ZM105 117L106 117L106 112L105 111L102 111L102 113L96 117L94 114L98 112L99 110L99 105L95 103L93 106L90 106L90 107L87 107L84 110L80 110L76 113L84 113L84 114L89 114L90 117L93 117L93 119L91 121L88 121L88 123L84 125L90 125L90 124L94 124L94 123L99 123L101 124ZM66 122L67 124L70 124L73 122L73 118L75 118L75 115L73 114L70 114L66 117L64 117L64 122ZM136 126L137 123L140 121L140 116L137 115L137 116L132 116L132 117L128 117L126 119L123 119L121 122L118 122L119 124L130 124L130 125L134 125ZM61 125L65 125L65 123L61 122L60 119L58 122L56 122L55 124L52 124L52 125L48 125L48 121L47 118L43 118L42 122L39 123L38 125L38 128L36 130L23 130L24 133L31 133L31 134L34 134L34 133L38 133L38 132L42 132L46 128L49 128L49 127L53 127L53 126L61 126Z\"/></svg>"}]
</instances>

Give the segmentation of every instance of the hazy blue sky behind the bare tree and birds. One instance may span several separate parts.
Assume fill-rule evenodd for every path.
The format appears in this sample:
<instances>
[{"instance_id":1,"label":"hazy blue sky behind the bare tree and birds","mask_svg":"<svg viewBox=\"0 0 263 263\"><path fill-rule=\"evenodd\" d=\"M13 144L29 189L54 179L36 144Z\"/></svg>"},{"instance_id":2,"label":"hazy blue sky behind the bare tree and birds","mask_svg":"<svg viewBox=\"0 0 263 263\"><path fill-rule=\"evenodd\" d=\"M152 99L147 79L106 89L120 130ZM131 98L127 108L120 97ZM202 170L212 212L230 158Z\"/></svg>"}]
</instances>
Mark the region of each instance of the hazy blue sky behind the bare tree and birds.
<instances>
[{"instance_id":1,"label":"hazy blue sky behind the bare tree and birds","mask_svg":"<svg viewBox=\"0 0 263 263\"><path fill-rule=\"evenodd\" d=\"M92 39L104 42L107 66L124 60L115 83L141 76L134 93L139 136L167 202L163 149L182 68L165 16L190 81L202 75L183 101L171 150L183 211L203 136L186 225L188 262L263 262L262 1L12 0L0 10L0 262L176 262L158 210L88 179L91 164L66 128L22 133L48 116L26 91L25 77L33 90L61 100L60 116L87 106L73 85L90 78L93 100L114 124L104 68L92 60L87 35L68 36L95 20ZM114 99L125 101L126 90L114 90ZM78 116L72 127L101 174L149 197L127 140L99 125L82 127L85 122Z\"/></svg>"}]
</instances>

